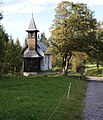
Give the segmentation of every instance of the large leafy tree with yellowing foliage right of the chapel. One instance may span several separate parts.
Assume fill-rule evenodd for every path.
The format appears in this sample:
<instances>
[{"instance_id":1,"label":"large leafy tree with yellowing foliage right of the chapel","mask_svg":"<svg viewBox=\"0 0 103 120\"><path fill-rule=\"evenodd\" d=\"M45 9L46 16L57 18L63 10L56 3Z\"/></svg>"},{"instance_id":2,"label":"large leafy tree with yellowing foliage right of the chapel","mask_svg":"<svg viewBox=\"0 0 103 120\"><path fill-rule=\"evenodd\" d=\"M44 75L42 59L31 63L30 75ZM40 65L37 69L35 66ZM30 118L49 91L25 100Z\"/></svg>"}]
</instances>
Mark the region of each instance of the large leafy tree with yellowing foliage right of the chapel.
<instances>
[{"instance_id":1,"label":"large leafy tree with yellowing foliage right of the chapel","mask_svg":"<svg viewBox=\"0 0 103 120\"><path fill-rule=\"evenodd\" d=\"M96 27L93 12L86 4L63 1L55 9L51 25L51 43L62 57L62 73L66 74L69 60L74 51L84 52L93 40L92 30ZM91 36L92 40L89 39ZM87 49L85 48L87 47Z\"/></svg>"}]
</instances>

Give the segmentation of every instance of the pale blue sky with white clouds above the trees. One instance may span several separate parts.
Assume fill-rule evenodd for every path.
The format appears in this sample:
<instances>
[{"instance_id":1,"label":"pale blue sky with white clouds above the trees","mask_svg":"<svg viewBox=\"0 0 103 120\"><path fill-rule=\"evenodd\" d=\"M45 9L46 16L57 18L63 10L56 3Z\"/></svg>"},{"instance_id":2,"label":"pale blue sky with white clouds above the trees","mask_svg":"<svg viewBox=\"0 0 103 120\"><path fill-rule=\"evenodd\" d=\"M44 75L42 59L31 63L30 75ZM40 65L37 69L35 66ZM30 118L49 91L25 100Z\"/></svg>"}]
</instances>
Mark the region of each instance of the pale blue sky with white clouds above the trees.
<instances>
[{"instance_id":1,"label":"pale blue sky with white clouds above the trees","mask_svg":"<svg viewBox=\"0 0 103 120\"><path fill-rule=\"evenodd\" d=\"M55 17L55 7L62 0L0 0L0 11L3 12L4 29L13 39L19 38L21 45L24 44L29 23L32 17L40 33L45 32L47 38L50 37L49 28ZM69 0L72 2L86 3L94 11L98 21L103 21L103 0Z\"/></svg>"}]
</instances>

